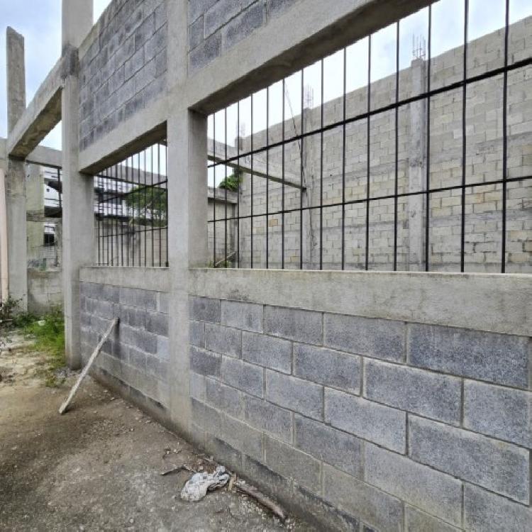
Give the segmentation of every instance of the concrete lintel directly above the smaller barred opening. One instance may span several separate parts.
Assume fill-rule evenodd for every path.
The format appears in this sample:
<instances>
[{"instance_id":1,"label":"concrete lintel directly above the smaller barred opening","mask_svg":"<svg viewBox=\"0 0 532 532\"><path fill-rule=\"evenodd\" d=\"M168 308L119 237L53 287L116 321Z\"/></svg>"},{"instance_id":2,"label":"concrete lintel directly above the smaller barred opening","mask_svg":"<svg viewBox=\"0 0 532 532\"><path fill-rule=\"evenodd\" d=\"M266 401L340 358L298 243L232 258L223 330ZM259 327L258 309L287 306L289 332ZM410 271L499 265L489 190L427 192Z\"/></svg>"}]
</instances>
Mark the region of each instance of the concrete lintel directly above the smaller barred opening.
<instances>
[{"instance_id":1,"label":"concrete lintel directly above the smaller barred opening","mask_svg":"<svg viewBox=\"0 0 532 532\"><path fill-rule=\"evenodd\" d=\"M166 138L168 102L163 96L79 152L79 172L97 174Z\"/></svg>"}]
</instances>

